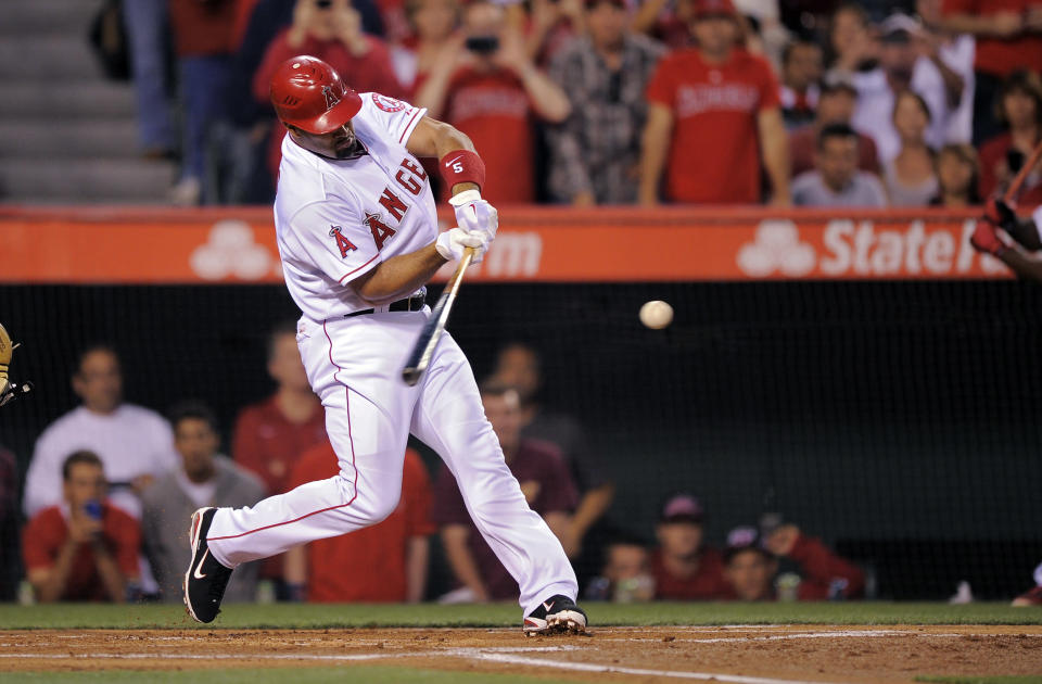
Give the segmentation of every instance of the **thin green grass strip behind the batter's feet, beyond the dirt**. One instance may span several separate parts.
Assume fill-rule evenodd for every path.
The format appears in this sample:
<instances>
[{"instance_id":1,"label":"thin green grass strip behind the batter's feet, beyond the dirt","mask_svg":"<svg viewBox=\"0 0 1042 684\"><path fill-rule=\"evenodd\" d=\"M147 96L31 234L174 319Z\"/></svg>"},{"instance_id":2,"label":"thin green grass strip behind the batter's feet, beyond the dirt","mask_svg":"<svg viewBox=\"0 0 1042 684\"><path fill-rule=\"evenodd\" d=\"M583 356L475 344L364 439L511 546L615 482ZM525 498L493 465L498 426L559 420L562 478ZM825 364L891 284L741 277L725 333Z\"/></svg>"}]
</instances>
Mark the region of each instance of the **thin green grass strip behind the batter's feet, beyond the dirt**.
<instances>
[{"instance_id":1,"label":"thin green grass strip behind the batter's feet, beyond the dirt","mask_svg":"<svg viewBox=\"0 0 1042 684\"><path fill-rule=\"evenodd\" d=\"M590 626L714 624L1042 624L1042 610L1005 604L585 604ZM0 630L325 629L368 626L520 626L517 605L228 605L212 625L181 606L66 604L0 606Z\"/></svg>"}]
</instances>

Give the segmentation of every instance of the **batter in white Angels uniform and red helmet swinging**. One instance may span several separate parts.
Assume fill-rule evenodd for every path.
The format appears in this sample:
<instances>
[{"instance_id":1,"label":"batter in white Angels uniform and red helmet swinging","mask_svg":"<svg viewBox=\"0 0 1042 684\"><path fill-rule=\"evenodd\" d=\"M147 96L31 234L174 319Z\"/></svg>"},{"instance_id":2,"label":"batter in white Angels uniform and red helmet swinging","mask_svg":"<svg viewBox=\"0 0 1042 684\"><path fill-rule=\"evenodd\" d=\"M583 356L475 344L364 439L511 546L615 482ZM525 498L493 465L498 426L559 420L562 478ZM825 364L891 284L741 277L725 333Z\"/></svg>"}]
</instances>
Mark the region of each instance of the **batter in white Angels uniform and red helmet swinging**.
<instances>
[{"instance_id":1,"label":"batter in white Angels uniform and red helmet swinging","mask_svg":"<svg viewBox=\"0 0 1042 684\"><path fill-rule=\"evenodd\" d=\"M518 581L524 632L585 630L575 573L504 463L462 351L445 334L416 385L401 378L431 315L424 283L467 248L480 263L496 237L498 215L481 199L484 163L473 144L425 110L355 92L312 56L276 71L271 102L289 129L275 200L279 253L340 473L251 508L196 510L185 573L189 615L217 617L239 563L383 520L398 503L411 432L456 476L474 523ZM420 156L440 160L453 192L459 227L441 235Z\"/></svg>"}]
</instances>

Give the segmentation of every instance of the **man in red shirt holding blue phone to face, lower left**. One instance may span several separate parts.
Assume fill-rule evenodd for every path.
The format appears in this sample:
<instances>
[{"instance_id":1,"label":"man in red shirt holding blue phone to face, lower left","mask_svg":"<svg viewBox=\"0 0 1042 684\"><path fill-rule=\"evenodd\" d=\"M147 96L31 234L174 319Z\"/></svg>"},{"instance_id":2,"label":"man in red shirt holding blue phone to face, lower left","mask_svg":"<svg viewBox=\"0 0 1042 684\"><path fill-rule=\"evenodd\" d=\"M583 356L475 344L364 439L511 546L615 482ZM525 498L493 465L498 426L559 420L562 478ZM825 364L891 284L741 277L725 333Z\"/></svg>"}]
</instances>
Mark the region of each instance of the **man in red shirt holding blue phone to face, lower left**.
<instances>
[{"instance_id":1,"label":"man in red shirt holding blue phone to face, lower left","mask_svg":"<svg viewBox=\"0 0 1042 684\"><path fill-rule=\"evenodd\" d=\"M93 452L71 454L62 480L62 504L34 516L22 534L36 598L123 603L139 579L141 529L104 499L105 474Z\"/></svg>"}]
</instances>

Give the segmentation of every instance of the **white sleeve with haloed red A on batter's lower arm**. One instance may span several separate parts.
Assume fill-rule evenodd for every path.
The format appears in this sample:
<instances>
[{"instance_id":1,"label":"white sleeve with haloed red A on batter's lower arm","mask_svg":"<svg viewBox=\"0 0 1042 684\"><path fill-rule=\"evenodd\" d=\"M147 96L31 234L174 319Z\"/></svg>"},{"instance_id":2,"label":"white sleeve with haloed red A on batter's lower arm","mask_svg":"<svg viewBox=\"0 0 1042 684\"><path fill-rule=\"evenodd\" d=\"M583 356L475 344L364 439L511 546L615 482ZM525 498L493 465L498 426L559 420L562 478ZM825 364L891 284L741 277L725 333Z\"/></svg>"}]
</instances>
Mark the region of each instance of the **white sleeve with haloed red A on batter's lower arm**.
<instances>
[{"instance_id":1,"label":"white sleeve with haloed red A on batter's lower arm","mask_svg":"<svg viewBox=\"0 0 1042 684\"><path fill-rule=\"evenodd\" d=\"M343 286L372 270L380 250L359 214L335 198L302 208L290 221L296 256Z\"/></svg>"}]
</instances>

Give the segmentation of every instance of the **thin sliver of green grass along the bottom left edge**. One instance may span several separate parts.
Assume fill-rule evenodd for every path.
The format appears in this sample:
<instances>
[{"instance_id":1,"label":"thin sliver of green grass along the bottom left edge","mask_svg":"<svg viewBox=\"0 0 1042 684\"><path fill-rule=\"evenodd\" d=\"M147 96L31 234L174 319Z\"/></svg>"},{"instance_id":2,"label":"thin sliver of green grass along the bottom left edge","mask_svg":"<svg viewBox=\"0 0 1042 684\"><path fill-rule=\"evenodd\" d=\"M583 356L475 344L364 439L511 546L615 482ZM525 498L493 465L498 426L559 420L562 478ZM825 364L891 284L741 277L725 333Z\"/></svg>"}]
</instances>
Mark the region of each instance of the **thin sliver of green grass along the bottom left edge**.
<instances>
[{"instance_id":1,"label":"thin sliver of green grass along the bottom left edge","mask_svg":"<svg viewBox=\"0 0 1042 684\"><path fill-rule=\"evenodd\" d=\"M290 675L293 684L318 684L320 682L365 682L366 684L555 684L566 680L494 674L490 672L449 672L442 670L416 670L386 666L351 666L348 668L297 668ZM266 670L105 670L97 672L4 672L4 684L45 684L72 682L74 684L123 684L149 682L206 682L206 684L284 684L287 671ZM574 682L572 680L571 682ZM570 683L571 684L571 683Z\"/></svg>"}]
</instances>

